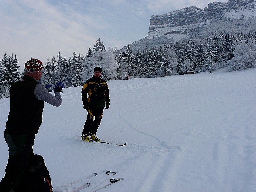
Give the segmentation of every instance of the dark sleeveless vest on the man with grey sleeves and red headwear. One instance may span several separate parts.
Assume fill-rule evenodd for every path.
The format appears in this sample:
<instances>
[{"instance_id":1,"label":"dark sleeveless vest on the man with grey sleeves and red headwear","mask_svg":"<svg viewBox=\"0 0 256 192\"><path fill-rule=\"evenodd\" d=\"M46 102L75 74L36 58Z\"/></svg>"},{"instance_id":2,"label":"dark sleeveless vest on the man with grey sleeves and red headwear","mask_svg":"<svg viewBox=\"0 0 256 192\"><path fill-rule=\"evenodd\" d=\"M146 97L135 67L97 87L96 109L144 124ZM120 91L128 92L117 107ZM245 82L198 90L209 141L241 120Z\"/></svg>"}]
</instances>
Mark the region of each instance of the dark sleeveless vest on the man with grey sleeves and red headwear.
<instances>
[{"instance_id":1,"label":"dark sleeveless vest on the man with grey sleeves and red headwear","mask_svg":"<svg viewBox=\"0 0 256 192\"><path fill-rule=\"evenodd\" d=\"M5 134L37 134L42 123L44 101L34 94L37 81L29 76L12 84L10 88L10 112Z\"/></svg>"}]
</instances>

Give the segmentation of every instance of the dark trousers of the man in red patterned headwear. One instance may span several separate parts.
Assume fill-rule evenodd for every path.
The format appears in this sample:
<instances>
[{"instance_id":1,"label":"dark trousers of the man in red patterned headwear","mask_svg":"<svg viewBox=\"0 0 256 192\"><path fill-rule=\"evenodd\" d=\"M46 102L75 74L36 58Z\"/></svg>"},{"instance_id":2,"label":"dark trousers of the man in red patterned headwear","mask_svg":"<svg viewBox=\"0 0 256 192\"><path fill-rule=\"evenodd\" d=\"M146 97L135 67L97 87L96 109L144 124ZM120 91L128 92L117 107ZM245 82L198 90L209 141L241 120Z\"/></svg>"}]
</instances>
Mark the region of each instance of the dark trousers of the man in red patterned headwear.
<instances>
[{"instance_id":1,"label":"dark trousers of the man in red patterned headwear","mask_svg":"<svg viewBox=\"0 0 256 192\"><path fill-rule=\"evenodd\" d=\"M5 175L0 183L1 192L10 192L23 177L28 167L29 158L34 155L34 134L9 135L4 134L9 147L9 158L5 168Z\"/></svg>"}]
</instances>

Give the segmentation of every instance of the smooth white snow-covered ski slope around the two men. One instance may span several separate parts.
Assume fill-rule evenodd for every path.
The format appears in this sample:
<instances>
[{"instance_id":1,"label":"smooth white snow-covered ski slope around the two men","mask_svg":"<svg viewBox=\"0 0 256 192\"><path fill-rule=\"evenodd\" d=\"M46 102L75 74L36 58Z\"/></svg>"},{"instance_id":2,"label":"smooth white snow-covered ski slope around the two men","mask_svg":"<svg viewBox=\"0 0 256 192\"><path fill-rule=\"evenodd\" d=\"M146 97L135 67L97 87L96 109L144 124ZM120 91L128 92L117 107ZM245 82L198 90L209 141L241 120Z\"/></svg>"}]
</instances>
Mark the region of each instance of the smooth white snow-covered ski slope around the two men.
<instances>
[{"instance_id":1,"label":"smooth white snow-covered ski slope around the two men","mask_svg":"<svg viewBox=\"0 0 256 192\"><path fill-rule=\"evenodd\" d=\"M45 104L34 152L50 171L54 192L256 191L256 69L112 80L99 138L80 140L86 111L81 87L63 89L60 107ZM0 99L0 177L8 158ZM107 170L118 172L106 175ZM94 173L98 173L94 176Z\"/></svg>"}]
</instances>

